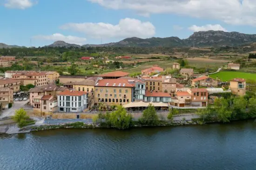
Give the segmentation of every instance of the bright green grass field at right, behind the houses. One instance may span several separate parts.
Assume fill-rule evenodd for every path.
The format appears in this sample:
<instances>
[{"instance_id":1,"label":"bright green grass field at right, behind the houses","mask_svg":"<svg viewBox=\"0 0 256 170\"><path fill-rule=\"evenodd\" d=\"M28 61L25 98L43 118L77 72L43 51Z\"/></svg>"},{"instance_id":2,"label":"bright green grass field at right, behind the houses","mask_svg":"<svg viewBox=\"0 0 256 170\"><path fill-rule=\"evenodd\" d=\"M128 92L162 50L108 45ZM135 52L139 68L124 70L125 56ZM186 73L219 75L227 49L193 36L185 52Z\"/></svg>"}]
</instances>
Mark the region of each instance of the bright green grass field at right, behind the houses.
<instances>
[{"instance_id":1,"label":"bright green grass field at right, behind the houses","mask_svg":"<svg viewBox=\"0 0 256 170\"><path fill-rule=\"evenodd\" d=\"M210 75L210 77L215 79L216 77L218 77L222 82L229 81L233 78L244 78L245 80L248 80L248 79L256 80L256 74L236 72L236 71L221 71L219 73Z\"/></svg>"}]
</instances>

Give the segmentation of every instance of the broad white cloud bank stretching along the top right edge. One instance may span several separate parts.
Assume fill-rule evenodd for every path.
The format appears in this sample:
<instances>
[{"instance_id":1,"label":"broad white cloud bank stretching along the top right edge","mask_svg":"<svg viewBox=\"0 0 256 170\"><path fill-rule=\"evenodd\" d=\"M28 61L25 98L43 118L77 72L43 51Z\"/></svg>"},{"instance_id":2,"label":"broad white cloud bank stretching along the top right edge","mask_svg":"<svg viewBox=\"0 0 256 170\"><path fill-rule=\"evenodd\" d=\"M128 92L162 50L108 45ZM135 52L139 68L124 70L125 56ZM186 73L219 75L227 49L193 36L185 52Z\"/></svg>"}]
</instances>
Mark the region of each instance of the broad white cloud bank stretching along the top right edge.
<instances>
[{"instance_id":1,"label":"broad white cloud bank stretching along the top right edge","mask_svg":"<svg viewBox=\"0 0 256 170\"><path fill-rule=\"evenodd\" d=\"M174 13L217 19L234 25L256 26L256 0L88 0L110 9L139 14Z\"/></svg>"}]
</instances>

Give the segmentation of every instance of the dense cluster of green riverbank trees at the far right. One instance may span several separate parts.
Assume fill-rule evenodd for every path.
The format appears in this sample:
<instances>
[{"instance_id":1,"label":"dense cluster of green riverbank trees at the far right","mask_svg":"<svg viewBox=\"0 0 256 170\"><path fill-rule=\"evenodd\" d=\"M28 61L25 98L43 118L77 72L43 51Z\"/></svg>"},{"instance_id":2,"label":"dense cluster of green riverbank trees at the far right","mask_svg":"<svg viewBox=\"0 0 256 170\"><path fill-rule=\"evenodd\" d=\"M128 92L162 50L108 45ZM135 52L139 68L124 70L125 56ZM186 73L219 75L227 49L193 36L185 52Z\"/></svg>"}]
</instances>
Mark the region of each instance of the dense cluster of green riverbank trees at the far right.
<instances>
[{"instance_id":1,"label":"dense cluster of green riverbank trees at the far right","mask_svg":"<svg viewBox=\"0 0 256 170\"><path fill-rule=\"evenodd\" d=\"M208 105L206 109L199 109L197 114L202 121L216 120L225 123L230 120L256 118L255 108L255 95L246 94L243 97L216 98L213 105Z\"/></svg>"}]
</instances>

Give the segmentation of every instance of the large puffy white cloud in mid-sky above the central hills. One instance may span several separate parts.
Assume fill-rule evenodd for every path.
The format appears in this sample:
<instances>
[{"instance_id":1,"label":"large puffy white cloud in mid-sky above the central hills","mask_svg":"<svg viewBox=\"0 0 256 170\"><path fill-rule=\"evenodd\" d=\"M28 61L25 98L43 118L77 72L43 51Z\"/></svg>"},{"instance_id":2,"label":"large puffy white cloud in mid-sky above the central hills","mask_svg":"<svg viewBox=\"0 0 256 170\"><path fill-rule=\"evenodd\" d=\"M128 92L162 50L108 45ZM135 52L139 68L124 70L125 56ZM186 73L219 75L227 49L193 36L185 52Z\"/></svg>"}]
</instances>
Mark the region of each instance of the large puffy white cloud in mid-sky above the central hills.
<instances>
[{"instance_id":1,"label":"large puffy white cloud in mid-sky above the central hills","mask_svg":"<svg viewBox=\"0 0 256 170\"><path fill-rule=\"evenodd\" d=\"M155 35L155 26L150 22L141 22L138 19L121 19L119 24L108 23L68 23L61 29L78 31L93 38L148 38Z\"/></svg>"}]
</instances>

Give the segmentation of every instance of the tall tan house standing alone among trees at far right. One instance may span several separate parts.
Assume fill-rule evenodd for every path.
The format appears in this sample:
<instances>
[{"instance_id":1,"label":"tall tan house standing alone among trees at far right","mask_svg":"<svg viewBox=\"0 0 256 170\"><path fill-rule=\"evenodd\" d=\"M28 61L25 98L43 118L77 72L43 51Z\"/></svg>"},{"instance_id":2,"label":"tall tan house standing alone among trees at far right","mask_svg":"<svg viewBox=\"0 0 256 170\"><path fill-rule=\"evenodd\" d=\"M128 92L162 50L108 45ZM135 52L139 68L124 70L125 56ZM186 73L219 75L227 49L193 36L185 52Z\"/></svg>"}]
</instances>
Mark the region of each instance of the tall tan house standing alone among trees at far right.
<instances>
[{"instance_id":1,"label":"tall tan house standing alone among trees at far right","mask_svg":"<svg viewBox=\"0 0 256 170\"><path fill-rule=\"evenodd\" d=\"M234 78L229 81L232 94L243 96L246 93L246 81L243 78Z\"/></svg>"}]
</instances>

